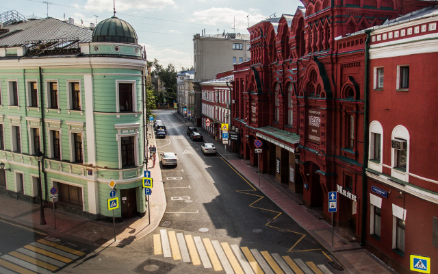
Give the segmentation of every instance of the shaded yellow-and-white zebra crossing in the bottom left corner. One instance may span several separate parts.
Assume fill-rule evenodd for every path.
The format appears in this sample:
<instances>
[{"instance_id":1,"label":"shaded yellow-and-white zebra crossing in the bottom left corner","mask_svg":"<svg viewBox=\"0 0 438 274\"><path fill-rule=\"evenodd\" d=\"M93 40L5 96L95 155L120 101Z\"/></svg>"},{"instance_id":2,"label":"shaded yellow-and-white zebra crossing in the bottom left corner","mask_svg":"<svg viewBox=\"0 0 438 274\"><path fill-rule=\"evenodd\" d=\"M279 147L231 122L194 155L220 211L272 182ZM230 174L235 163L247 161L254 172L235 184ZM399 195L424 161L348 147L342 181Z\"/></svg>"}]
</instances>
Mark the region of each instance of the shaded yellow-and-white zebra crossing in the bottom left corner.
<instances>
[{"instance_id":1,"label":"shaded yellow-and-white zebra crossing in the bottom left corner","mask_svg":"<svg viewBox=\"0 0 438 274\"><path fill-rule=\"evenodd\" d=\"M40 239L0 256L0 273L49 274L84 255L60 245L56 239Z\"/></svg>"}]
</instances>

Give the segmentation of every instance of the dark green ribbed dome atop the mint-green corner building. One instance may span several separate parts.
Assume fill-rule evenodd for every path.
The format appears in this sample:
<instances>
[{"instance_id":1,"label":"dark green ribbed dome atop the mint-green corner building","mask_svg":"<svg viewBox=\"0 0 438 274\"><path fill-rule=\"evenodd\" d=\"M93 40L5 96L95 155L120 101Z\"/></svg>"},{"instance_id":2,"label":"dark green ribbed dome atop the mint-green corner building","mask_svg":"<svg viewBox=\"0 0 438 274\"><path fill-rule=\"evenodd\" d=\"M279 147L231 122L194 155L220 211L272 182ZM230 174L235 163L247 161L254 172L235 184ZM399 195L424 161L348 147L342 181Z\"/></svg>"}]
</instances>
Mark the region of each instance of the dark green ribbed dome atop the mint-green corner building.
<instances>
[{"instance_id":1,"label":"dark green ribbed dome atop the mint-green corner building","mask_svg":"<svg viewBox=\"0 0 438 274\"><path fill-rule=\"evenodd\" d=\"M127 42L137 44L134 28L117 16L99 22L93 31L92 42Z\"/></svg>"}]
</instances>

